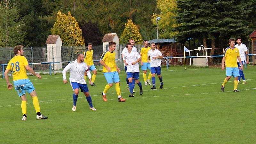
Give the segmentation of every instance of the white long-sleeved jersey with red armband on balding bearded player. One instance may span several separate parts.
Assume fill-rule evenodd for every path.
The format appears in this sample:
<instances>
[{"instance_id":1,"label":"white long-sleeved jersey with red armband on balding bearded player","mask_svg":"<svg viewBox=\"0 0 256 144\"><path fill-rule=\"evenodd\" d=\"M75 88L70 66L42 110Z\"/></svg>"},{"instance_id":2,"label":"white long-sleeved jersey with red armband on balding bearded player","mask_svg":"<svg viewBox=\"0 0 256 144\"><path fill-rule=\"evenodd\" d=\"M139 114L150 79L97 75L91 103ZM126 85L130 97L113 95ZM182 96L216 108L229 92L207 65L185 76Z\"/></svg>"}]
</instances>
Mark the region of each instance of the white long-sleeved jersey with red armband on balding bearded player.
<instances>
[{"instance_id":1,"label":"white long-sleeved jersey with red armband on balding bearded player","mask_svg":"<svg viewBox=\"0 0 256 144\"><path fill-rule=\"evenodd\" d=\"M86 84L84 80L84 72L88 72L89 69L84 62L77 63L76 60L70 62L62 71L63 80L67 79L66 71L70 71L70 76L69 76L70 83L76 82L79 84ZM88 75L88 77L91 78L91 75L90 76Z\"/></svg>"}]
</instances>

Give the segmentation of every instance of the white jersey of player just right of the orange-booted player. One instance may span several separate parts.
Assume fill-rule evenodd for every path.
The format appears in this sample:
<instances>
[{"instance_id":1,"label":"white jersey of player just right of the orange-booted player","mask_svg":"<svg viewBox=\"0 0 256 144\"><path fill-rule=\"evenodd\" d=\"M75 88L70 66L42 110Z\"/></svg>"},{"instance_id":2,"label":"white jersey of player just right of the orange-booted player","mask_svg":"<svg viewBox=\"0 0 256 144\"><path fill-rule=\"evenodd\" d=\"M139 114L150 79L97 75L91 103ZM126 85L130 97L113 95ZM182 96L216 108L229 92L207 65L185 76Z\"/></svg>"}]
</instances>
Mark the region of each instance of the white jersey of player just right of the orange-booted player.
<instances>
[{"instance_id":1,"label":"white jersey of player just right of the orange-booted player","mask_svg":"<svg viewBox=\"0 0 256 144\"><path fill-rule=\"evenodd\" d=\"M137 61L140 58L140 54L138 52L126 52L124 53L124 60L128 64L127 72L135 73L140 71L140 67L138 62L135 65L132 65L132 62Z\"/></svg>"}]
</instances>

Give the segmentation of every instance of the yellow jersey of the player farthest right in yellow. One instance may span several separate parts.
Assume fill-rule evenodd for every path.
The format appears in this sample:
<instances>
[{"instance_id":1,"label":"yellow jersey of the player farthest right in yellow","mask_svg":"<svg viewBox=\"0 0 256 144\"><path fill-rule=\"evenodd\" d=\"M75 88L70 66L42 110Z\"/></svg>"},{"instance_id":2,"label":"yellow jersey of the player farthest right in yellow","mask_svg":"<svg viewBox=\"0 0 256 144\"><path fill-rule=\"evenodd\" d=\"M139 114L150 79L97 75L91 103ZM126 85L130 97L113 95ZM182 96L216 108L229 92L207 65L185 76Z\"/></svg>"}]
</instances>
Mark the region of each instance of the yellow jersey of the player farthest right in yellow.
<instances>
[{"instance_id":1,"label":"yellow jersey of the player farthest right in yellow","mask_svg":"<svg viewBox=\"0 0 256 144\"><path fill-rule=\"evenodd\" d=\"M237 67L236 59L238 56L240 56L238 48L236 47L234 49L231 49L230 47L226 48L223 56L225 57L226 67L230 67L230 68Z\"/></svg>"}]
</instances>

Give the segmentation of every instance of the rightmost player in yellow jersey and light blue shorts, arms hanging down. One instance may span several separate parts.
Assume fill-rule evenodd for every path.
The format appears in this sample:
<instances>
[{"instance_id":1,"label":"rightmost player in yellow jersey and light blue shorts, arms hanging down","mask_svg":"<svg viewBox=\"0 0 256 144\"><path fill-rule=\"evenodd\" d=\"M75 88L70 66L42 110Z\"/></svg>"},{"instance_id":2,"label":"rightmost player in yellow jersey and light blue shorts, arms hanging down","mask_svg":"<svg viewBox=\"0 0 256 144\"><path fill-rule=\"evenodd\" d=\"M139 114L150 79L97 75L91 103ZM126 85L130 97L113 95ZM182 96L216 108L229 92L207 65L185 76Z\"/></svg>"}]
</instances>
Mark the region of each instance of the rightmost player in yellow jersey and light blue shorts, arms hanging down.
<instances>
[{"instance_id":1,"label":"rightmost player in yellow jersey and light blue shorts, arms hanging down","mask_svg":"<svg viewBox=\"0 0 256 144\"><path fill-rule=\"evenodd\" d=\"M241 65L241 69L243 69L243 65L240 59L240 54L238 48L235 47L235 39L230 38L228 40L229 42L229 47L227 47L224 51L223 58L222 58L222 70L224 70L226 63L226 78L224 79L223 84L221 85L221 91L224 92L225 84L228 82L228 80L233 76L235 78L234 80L234 92L239 92L237 90L237 85L238 85L238 76L239 75L239 70L237 67L237 62L236 59L239 60L239 63Z\"/></svg>"}]
</instances>

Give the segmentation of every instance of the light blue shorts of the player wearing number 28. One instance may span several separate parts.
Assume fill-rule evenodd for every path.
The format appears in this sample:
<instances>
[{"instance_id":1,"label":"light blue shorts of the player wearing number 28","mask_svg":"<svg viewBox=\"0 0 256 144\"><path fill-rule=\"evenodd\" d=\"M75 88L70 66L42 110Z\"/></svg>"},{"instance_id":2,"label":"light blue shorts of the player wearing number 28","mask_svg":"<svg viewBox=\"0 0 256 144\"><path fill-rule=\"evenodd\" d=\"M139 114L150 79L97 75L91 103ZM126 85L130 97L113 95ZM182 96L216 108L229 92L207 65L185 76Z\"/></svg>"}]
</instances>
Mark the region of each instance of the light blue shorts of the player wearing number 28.
<instances>
[{"instance_id":1,"label":"light blue shorts of the player wearing number 28","mask_svg":"<svg viewBox=\"0 0 256 144\"><path fill-rule=\"evenodd\" d=\"M31 93L35 90L34 85L30 82L29 79L19 79L13 81L15 90L18 92L18 95L21 97L23 94Z\"/></svg>"}]
</instances>

